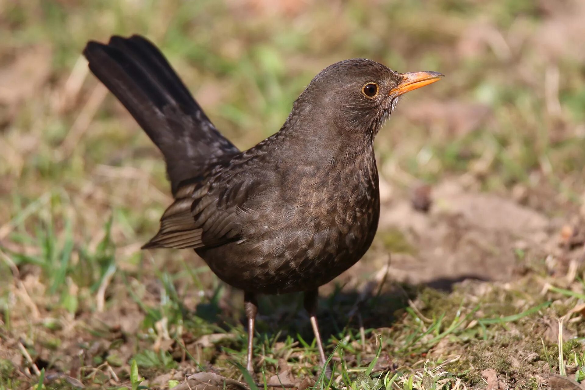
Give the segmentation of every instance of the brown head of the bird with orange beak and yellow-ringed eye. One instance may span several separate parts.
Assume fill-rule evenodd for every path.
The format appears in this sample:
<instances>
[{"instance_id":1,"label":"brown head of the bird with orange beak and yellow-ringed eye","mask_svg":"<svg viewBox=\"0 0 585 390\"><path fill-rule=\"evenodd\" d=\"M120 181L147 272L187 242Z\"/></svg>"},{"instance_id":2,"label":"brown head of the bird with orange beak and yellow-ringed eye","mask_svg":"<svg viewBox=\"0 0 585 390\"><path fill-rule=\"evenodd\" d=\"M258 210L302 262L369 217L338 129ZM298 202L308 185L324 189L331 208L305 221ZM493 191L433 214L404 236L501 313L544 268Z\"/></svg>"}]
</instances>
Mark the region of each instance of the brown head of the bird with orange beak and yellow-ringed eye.
<instances>
[{"instance_id":1,"label":"brown head of the bird with orange beak and yellow-ringed eye","mask_svg":"<svg viewBox=\"0 0 585 390\"><path fill-rule=\"evenodd\" d=\"M315 76L295 102L293 113L319 117L344 133L373 137L400 96L441 77L437 72L398 73L364 58L340 61Z\"/></svg>"}]
</instances>

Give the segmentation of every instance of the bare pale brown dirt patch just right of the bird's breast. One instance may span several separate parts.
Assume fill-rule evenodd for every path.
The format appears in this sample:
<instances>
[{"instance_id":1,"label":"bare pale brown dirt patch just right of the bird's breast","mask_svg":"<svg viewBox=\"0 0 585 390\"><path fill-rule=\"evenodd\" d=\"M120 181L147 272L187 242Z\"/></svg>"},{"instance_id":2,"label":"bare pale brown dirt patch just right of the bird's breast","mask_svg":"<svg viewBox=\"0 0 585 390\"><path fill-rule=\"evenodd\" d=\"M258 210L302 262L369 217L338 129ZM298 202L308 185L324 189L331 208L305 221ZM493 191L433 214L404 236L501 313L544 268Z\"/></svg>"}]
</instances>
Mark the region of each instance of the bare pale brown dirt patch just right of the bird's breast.
<instances>
[{"instance_id":1,"label":"bare pale brown dirt patch just right of the bird's breast","mask_svg":"<svg viewBox=\"0 0 585 390\"><path fill-rule=\"evenodd\" d=\"M415 210L407 198L382 210L380 239L398 229L416 249L392 254L390 274L397 281L510 279L522 267L521 253L542 251L551 240L553 222L512 199L466 191L455 182L437 185L432 199L428 213Z\"/></svg>"}]
</instances>

